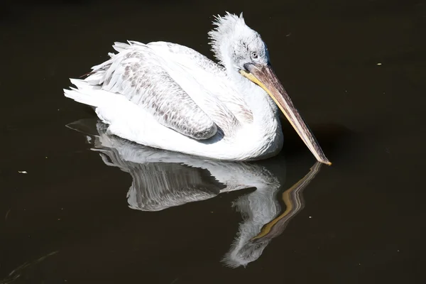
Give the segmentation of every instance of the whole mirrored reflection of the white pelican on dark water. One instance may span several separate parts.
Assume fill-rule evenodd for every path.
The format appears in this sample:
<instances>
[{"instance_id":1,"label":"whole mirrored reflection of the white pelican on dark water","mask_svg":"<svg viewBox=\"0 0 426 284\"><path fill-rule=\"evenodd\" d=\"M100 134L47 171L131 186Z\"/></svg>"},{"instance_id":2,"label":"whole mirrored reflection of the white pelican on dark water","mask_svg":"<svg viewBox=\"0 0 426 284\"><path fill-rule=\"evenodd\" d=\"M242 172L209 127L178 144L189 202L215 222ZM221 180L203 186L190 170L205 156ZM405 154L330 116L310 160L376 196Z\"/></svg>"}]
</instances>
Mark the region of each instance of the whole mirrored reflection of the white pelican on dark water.
<instances>
[{"instance_id":1,"label":"whole mirrored reflection of the white pelican on dark water","mask_svg":"<svg viewBox=\"0 0 426 284\"><path fill-rule=\"evenodd\" d=\"M77 121L68 127L87 133L88 125L87 121ZM106 165L131 175L133 181L127 198L132 209L160 211L207 200L223 192L256 187L232 205L241 212L243 222L222 259L231 268L256 261L272 239L283 233L290 219L303 209L302 191L321 168L321 163L315 163L305 177L279 195L285 182L283 160L280 163L207 160L109 135L107 126L101 122L96 128L97 133L87 136L87 141L94 143L92 150L99 151ZM281 204L285 205L284 209Z\"/></svg>"}]
</instances>

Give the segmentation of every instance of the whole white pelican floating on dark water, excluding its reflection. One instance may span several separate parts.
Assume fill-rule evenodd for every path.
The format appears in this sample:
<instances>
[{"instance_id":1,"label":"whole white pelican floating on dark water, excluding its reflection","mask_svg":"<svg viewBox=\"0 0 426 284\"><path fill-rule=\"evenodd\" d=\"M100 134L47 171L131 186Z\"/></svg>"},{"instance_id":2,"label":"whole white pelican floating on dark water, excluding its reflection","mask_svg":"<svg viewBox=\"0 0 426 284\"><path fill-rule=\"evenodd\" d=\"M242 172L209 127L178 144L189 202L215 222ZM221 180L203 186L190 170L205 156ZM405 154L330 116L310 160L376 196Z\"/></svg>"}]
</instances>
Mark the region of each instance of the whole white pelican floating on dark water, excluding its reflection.
<instances>
[{"instance_id":1,"label":"whole white pelican floating on dark water, excluding its reflection","mask_svg":"<svg viewBox=\"0 0 426 284\"><path fill-rule=\"evenodd\" d=\"M129 141L217 160L280 152L278 108L315 158L331 165L273 72L268 48L242 13L217 16L209 32L219 64L168 42L114 43L65 96L94 107L108 132Z\"/></svg>"}]
</instances>

